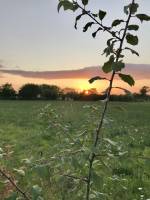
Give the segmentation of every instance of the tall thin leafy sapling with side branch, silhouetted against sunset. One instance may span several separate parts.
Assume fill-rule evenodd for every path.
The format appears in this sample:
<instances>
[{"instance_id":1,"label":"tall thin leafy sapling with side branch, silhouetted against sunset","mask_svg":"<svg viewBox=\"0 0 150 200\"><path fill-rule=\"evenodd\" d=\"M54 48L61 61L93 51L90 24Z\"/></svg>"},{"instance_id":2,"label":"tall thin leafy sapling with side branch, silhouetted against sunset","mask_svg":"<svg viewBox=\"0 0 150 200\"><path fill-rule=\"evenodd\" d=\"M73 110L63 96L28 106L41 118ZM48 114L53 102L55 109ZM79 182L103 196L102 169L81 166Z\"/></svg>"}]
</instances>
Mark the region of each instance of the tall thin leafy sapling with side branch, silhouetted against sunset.
<instances>
[{"instance_id":1,"label":"tall thin leafy sapling with side branch, silhouetted against sunset","mask_svg":"<svg viewBox=\"0 0 150 200\"><path fill-rule=\"evenodd\" d=\"M89 28L91 28L93 25L97 25L98 29L92 34L92 36L95 38L97 36L97 33L99 31L106 31L111 35L111 38L107 40L107 47L104 49L103 54L106 55L106 57L109 57L109 60L104 63L102 70L105 73L111 73L111 78L108 80L105 77L96 76L89 80L90 83L93 83L96 80L108 80L109 86L106 90L106 99L105 99L105 105L102 111L102 114L100 114L99 117L99 123L98 127L95 132L95 138L93 140L93 146L92 151L89 154L88 159L88 175L87 175L87 182L86 182L86 200L90 199L90 192L91 192L91 183L92 183L92 173L93 173L93 163L96 159L95 150L97 147L101 144L103 133L102 133L102 126L104 122L104 118L106 115L108 103L110 100L110 95L113 87L113 81L116 75L118 77L128 83L130 86L133 86L135 81L132 78L131 75L123 74L121 73L122 69L125 68L125 64L122 61L122 58L124 55L122 54L123 50L128 50L132 54L135 54L139 56L139 53L133 50L130 47L125 47L123 49L124 42L127 42L129 45L136 46L139 42L138 37L136 35L133 35L130 33L130 31L137 31L139 29L139 26L137 24L130 24L130 21L133 17L137 18L141 22L143 21L150 21L150 17L146 14L136 14L139 4L135 3L135 0L132 0L131 3L127 6L124 6L124 13L127 15L127 19L115 19L111 26L105 26L103 24L103 19L106 17L107 12L99 10L97 14L92 13L91 11L86 9L86 6L88 5L89 0L81 0L82 5L81 6L78 1L68 1L68 0L60 0L58 4L58 11L61 7L64 8L64 10L72 10L76 11L78 9L81 10L81 14L78 15L75 19L75 28L77 29L77 23L83 16L88 16L92 21L88 22L83 27L83 32L86 32ZM122 24L124 24L124 27L122 27ZM116 27L120 27L119 30L116 30ZM121 87L116 87L119 89L122 89ZM94 150L93 150L94 149Z\"/></svg>"}]
</instances>

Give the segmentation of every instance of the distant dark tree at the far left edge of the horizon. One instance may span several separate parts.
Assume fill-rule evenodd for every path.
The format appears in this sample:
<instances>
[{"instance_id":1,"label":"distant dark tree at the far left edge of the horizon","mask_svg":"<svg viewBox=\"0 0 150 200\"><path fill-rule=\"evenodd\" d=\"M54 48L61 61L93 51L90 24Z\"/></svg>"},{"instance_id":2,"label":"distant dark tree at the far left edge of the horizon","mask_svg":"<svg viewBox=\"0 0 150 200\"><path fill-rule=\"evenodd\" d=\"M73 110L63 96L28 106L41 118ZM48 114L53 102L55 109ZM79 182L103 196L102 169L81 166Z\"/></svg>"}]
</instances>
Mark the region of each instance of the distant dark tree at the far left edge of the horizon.
<instances>
[{"instance_id":1,"label":"distant dark tree at the far left edge of the horizon","mask_svg":"<svg viewBox=\"0 0 150 200\"><path fill-rule=\"evenodd\" d=\"M6 83L0 87L0 98L1 99L15 99L16 91L12 87L12 84Z\"/></svg>"}]
</instances>

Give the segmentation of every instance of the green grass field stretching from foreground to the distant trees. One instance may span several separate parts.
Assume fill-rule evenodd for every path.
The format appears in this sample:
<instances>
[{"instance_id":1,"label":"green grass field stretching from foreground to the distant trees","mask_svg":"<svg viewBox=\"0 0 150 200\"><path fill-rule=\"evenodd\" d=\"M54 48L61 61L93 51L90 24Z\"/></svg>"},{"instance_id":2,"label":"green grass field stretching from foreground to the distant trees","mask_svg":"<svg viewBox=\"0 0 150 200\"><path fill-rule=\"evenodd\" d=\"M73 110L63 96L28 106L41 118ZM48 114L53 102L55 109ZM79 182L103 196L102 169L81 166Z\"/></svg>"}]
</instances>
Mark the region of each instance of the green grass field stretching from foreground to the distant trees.
<instances>
[{"instance_id":1,"label":"green grass field stretching from foreground to the distant trees","mask_svg":"<svg viewBox=\"0 0 150 200\"><path fill-rule=\"evenodd\" d=\"M50 179L56 165L64 161L52 162L51 168L55 169L50 171L48 168L47 171L47 168L37 170L30 166L31 163L27 166L24 159L43 164L57 153L58 148L69 148L67 138L70 135L78 137L86 131L92 137L102 105L99 102L0 101L0 148L5 152L0 158L1 165L17 177L25 190L30 191L31 185L38 184L46 200L83 199L82 194L74 197L77 189L72 189L72 181L68 186L64 180L61 180L63 184L57 185L57 181ZM100 190L101 198L93 192L93 199L150 199L150 103L110 103L104 122L104 137L113 142L102 145L109 158L104 155L101 164L95 164L98 171L95 179L101 179L93 188ZM55 138L56 135L60 140ZM79 165L82 162L73 169ZM14 169L23 169L25 176L18 175ZM6 188L0 178L0 199L4 199ZM68 194L65 191L69 191Z\"/></svg>"}]
</instances>

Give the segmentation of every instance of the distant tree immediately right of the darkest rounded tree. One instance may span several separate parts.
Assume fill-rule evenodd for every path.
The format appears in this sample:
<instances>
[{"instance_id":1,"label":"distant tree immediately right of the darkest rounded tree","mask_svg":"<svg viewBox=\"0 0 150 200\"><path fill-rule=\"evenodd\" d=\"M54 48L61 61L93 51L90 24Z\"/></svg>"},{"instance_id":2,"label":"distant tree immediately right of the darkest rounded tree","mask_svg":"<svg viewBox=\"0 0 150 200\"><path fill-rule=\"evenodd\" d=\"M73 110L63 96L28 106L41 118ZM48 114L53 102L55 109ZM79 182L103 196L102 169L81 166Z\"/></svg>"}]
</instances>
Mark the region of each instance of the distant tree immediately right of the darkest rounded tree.
<instances>
[{"instance_id":1,"label":"distant tree immediately right of the darkest rounded tree","mask_svg":"<svg viewBox=\"0 0 150 200\"><path fill-rule=\"evenodd\" d=\"M40 85L40 97L42 99L56 100L60 95L60 88L56 85Z\"/></svg>"}]
</instances>

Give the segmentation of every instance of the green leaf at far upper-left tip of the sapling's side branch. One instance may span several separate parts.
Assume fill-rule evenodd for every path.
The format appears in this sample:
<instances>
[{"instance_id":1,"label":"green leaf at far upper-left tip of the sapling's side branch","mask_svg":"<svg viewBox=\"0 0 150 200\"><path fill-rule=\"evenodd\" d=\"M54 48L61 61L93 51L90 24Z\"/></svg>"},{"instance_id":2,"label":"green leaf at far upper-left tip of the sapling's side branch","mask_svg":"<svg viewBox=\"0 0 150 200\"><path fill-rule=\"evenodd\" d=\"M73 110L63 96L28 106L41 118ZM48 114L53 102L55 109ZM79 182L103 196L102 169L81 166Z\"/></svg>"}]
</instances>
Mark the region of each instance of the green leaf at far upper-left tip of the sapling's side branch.
<instances>
[{"instance_id":1,"label":"green leaf at far upper-left tip of the sapling's side branch","mask_svg":"<svg viewBox=\"0 0 150 200\"><path fill-rule=\"evenodd\" d=\"M78 9L78 5L75 3L72 3L68 0L61 0L58 4L57 10L60 11L60 8L63 7L64 10L72 10L76 11Z\"/></svg>"}]
</instances>

